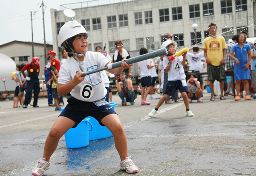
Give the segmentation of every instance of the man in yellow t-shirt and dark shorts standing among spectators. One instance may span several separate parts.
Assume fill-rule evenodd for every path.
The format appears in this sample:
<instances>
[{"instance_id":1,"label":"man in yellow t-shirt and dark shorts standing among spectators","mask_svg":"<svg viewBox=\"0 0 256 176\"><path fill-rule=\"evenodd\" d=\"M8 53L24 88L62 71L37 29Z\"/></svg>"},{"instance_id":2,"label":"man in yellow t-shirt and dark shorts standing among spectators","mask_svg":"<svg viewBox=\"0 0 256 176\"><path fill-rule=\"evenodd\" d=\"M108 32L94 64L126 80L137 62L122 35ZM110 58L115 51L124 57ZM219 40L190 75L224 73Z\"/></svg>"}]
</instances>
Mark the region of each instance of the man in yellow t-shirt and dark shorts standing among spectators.
<instances>
[{"instance_id":1,"label":"man in yellow t-shirt and dark shorts standing among spectators","mask_svg":"<svg viewBox=\"0 0 256 176\"><path fill-rule=\"evenodd\" d=\"M225 78L225 56L226 56L226 42L222 36L217 36L217 25L211 23L208 26L209 33L211 34L204 40L204 57L207 63L207 74L210 80L211 101L215 100L214 97L214 81L220 82L220 100L226 100L223 96Z\"/></svg>"}]
</instances>

